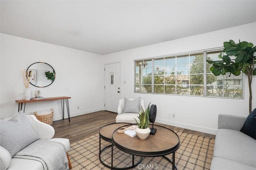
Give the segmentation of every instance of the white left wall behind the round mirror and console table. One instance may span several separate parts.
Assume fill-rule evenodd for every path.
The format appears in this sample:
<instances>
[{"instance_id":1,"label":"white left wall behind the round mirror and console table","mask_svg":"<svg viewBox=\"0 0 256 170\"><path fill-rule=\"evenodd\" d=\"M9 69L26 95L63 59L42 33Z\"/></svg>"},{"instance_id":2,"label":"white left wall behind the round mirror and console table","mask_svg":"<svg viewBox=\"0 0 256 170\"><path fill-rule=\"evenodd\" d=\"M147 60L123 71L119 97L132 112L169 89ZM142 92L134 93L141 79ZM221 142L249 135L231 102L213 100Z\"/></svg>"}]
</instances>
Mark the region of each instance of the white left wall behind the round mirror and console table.
<instances>
[{"instance_id":1,"label":"white left wall behind the round mirror and console table","mask_svg":"<svg viewBox=\"0 0 256 170\"><path fill-rule=\"evenodd\" d=\"M35 90L40 90L44 97L70 96L71 117L103 109L102 55L1 33L0 118L17 113L18 104L15 100L24 99L21 70L39 61L54 68L56 80L46 88L30 84L32 97ZM25 113L51 108L55 111L54 120L61 119L60 100L28 103Z\"/></svg>"}]
</instances>

